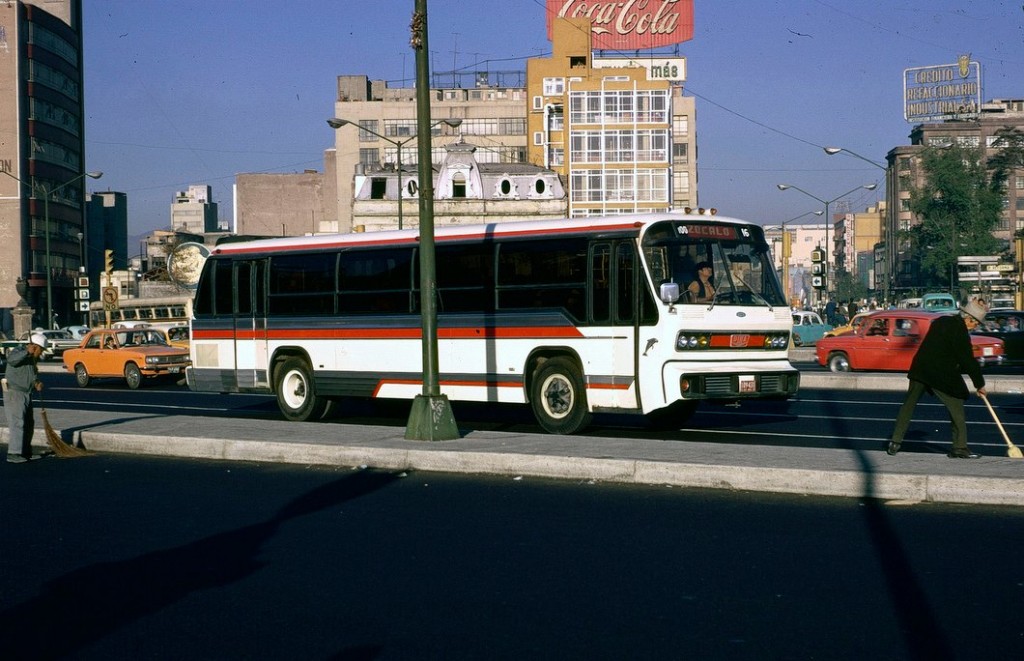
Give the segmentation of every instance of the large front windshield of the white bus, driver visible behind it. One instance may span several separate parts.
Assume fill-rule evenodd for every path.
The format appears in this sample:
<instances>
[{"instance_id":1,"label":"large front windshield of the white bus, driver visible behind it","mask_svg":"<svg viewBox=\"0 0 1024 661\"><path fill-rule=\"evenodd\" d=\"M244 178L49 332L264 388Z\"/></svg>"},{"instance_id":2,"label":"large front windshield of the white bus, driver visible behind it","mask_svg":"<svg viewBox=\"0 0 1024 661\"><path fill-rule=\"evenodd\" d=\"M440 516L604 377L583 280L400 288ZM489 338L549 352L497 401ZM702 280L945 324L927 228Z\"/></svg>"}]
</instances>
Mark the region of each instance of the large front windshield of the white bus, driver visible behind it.
<instances>
[{"instance_id":1,"label":"large front windshield of the white bus, driver visible behind it","mask_svg":"<svg viewBox=\"0 0 1024 661\"><path fill-rule=\"evenodd\" d=\"M654 292L675 282L679 303L785 305L760 227L667 220L653 223L641 246ZM702 280L698 267L705 266L711 274Z\"/></svg>"}]
</instances>

